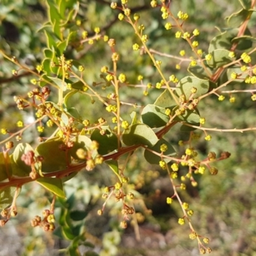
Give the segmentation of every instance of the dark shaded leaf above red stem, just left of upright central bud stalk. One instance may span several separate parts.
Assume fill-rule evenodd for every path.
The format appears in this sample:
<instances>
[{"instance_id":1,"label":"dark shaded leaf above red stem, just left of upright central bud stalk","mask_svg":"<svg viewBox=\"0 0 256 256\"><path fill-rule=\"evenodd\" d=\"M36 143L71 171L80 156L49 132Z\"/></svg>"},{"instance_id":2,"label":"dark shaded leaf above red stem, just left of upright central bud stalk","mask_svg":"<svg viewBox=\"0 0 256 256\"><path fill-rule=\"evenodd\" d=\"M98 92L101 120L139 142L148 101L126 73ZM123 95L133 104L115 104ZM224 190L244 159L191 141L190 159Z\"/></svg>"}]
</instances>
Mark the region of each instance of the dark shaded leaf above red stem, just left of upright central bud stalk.
<instances>
[{"instance_id":1,"label":"dark shaded leaf above red stem, just left of upright central bud stalk","mask_svg":"<svg viewBox=\"0 0 256 256\"><path fill-rule=\"evenodd\" d=\"M102 135L99 129L95 129L92 132L91 140L99 143L99 154L106 155L118 148L118 140L116 134L112 132L109 126L102 126L101 128L105 131L105 134Z\"/></svg>"}]
</instances>

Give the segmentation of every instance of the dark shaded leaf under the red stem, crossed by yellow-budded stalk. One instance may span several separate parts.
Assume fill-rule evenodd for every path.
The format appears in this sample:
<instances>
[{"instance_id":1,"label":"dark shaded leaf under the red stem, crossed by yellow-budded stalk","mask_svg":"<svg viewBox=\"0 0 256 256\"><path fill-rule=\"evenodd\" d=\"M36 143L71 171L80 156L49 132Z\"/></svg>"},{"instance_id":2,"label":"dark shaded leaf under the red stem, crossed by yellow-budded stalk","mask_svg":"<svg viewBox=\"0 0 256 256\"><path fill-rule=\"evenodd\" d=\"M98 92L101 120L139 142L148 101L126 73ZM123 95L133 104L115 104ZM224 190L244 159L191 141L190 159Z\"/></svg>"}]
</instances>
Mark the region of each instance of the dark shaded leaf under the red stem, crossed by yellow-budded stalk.
<instances>
[{"instance_id":1,"label":"dark shaded leaf under the red stem, crossed by yellow-budded stalk","mask_svg":"<svg viewBox=\"0 0 256 256\"><path fill-rule=\"evenodd\" d=\"M172 145L168 141L164 140L163 138L161 138L159 141L157 141L157 143L156 143L156 145L154 145L154 147L148 147L148 149L161 154L160 147L162 144L166 144L168 147L166 152L164 152L164 156L175 156L176 155L175 149L172 147ZM159 161L161 161L161 157L157 156L156 154L154 154L153 152L150 152L147 149L145 149L144 157L150 164L159 164ZM169 163L171 160L164 158L164 161L166 163Z\"/></svg>"}]
</instances>

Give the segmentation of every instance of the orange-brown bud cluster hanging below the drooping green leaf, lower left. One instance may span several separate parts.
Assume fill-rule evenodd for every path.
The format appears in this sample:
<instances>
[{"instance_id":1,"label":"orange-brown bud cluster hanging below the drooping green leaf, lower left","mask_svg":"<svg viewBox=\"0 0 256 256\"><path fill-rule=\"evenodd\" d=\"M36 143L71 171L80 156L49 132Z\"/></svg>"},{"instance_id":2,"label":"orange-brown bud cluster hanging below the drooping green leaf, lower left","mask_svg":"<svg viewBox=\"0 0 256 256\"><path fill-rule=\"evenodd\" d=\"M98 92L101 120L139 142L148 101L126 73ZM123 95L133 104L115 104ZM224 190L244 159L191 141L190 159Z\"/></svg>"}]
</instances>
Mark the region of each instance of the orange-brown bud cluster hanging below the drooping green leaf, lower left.
<instances>
[{"instance_id":1,"label":"orange-brown bud cluster hanging below the drooping green leaf, lower left","mask_svg":"<svg viewBox=\"0 0 256 256\"><path fill-rule=\"evenodd\" d=\"M43 211L43 219L40 216L35 216L31 220L32 227L42 227L44 231L53 231L55 229L55 216L50 210L46 209Z\"/></svg>"}]
</instances>

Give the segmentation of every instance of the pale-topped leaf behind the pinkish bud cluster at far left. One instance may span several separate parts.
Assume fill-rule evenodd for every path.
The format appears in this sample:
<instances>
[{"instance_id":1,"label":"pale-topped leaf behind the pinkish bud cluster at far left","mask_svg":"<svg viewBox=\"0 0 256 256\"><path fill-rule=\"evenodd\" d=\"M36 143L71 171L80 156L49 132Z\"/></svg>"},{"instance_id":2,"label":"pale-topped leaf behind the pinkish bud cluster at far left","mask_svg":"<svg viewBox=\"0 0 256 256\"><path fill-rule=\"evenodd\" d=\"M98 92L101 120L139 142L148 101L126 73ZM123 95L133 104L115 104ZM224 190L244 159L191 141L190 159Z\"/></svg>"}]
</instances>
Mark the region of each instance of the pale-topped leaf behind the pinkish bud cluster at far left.
<instances>
[{"instance_id":1,"label":"pale-topped leaf behind the pinkish bud cluster at far left","mask_svg":"<svg viewBox=\"0 0 256 256\"><path fill-rule=\"evenodd\" d=\"M10 156L11 163L13 160L13 175L19 177L25 177L29 175L31 172L31 166L28 166L24 163L24 161L21 160L22 155L27 154L29 151L34 152L33 148L28 143L19 143L17 147L15 147L13 154Z\"/></svg>"}]
</instances>

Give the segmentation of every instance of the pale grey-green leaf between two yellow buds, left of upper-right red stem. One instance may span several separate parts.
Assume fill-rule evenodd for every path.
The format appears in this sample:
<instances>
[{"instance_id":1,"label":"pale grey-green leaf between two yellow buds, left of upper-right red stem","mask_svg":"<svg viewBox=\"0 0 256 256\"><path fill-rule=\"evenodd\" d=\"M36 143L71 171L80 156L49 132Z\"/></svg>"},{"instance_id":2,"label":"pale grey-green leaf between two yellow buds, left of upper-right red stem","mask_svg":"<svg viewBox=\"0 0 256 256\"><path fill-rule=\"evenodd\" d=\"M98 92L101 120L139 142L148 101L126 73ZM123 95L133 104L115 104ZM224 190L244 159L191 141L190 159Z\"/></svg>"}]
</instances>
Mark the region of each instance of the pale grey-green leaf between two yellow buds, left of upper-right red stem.
<instances>
[{"instance_id":1,"label":"pale grey-green leaf between two yellow buds, left of upper-right red stem","mask_svg":"<svg viewBox=\"0 0 256 256\"><path fill-rule=\"evenodd\" d=\"M218 68L234 61L234 58L230 58L228 56L229 53L230 51L226 49L216 49L212 51L211 52L212 58L211 60L207 61L207 65L209 65L209 67L212 67L212 68Z\"/></svg>"}]
</instances>

